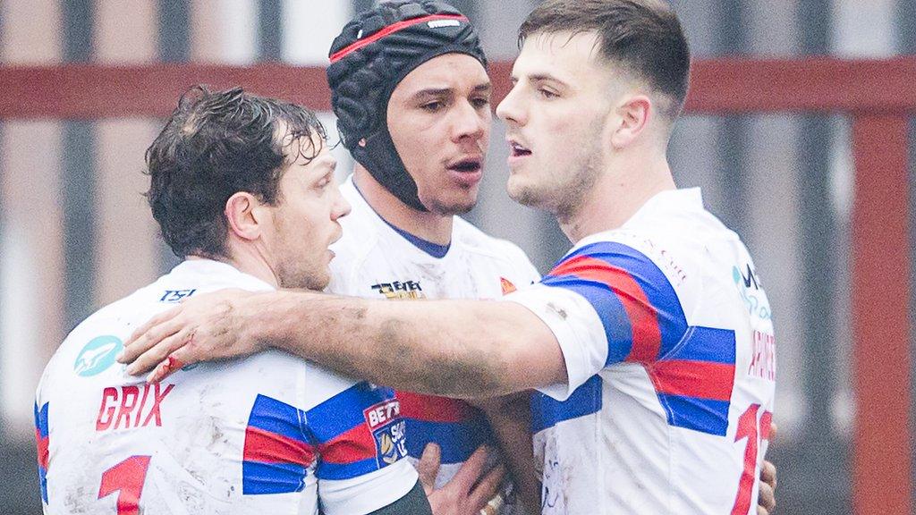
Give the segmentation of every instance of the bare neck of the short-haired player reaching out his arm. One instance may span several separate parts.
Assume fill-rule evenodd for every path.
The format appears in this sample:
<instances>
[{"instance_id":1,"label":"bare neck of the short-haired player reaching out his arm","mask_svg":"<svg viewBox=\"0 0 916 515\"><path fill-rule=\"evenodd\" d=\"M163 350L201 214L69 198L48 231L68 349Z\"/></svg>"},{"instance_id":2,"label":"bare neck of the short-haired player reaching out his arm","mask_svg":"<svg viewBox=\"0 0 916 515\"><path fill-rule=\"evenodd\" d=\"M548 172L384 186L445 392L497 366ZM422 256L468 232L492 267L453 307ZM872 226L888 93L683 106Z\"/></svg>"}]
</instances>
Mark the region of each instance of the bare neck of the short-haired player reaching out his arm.
<instances>
[{"instance_id":1,"label":"bare neck of the short-haired player reaching out his arm","mask_svg":"<svg viewBox=\"0 0 916 515\"><path fill-rule=\"evenodd\" d=\"M664 155L641 161L621 156L608 163L572 213L557 218L563 234L576 244L586 236L619 228L656 194L674 189Z\"/></svg>"}]
</instances>

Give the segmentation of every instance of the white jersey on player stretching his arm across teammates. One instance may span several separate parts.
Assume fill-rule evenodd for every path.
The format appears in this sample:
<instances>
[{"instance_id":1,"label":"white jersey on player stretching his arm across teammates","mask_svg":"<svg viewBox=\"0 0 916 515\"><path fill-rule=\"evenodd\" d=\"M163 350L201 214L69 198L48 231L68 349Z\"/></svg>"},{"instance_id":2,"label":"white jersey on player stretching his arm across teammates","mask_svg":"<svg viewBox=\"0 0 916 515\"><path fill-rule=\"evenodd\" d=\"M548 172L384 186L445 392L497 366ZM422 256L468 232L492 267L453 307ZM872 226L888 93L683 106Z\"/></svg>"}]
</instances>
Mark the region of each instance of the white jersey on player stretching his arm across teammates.
<instances>
[{"instance_id":1,"label":"white jersey on player stretching his arm across teammates","mask_svg":"<svg viewBox=\"0 0 916 515\"><path fill-rule=\"evenodd\" d=\"M533 400L543 513L756 513L773 324L698 189L657 194L507 300L550 326L569 373Z\"/></svg>"}]
</instances>

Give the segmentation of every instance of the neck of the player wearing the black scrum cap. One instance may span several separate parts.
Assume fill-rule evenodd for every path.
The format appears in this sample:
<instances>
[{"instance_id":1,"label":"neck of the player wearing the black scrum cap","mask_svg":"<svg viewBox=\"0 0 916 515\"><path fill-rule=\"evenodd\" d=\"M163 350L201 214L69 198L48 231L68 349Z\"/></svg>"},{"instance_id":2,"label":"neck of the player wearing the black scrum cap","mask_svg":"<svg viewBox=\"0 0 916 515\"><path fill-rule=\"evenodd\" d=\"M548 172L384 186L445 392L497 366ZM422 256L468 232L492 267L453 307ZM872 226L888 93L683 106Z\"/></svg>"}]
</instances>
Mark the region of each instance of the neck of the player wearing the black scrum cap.
<instances>
[{"instance_id":1,"label":"neck of the player wearing the black scrum cap","mask_svg":"<svg viewBox=\"0 0 916 515\"><path fill-rule=\"evenodd\" d=\"M421 212L409 207L359 164L354 170L353 180L365 202L388 224L436 245L452 243L452 215Z\"/></svg>"}]
</instances>

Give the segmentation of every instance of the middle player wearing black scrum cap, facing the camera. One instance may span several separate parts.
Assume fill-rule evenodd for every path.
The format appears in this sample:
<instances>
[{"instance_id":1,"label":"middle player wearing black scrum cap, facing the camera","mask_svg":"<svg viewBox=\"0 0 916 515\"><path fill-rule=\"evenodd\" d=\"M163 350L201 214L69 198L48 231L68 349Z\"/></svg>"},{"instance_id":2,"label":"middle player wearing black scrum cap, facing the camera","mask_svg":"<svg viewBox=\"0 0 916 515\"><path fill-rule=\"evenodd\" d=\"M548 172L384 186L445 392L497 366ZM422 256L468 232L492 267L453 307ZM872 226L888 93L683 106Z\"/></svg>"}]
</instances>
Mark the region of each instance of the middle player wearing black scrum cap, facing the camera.
<instances>
[{"instance_id":1,"label":"middle player wearing black scrum cap, facing the camera","mask_svg":"<svg viewBox=\"0 0 916 515\"><path fill-rule=\"evenodd\" d=\"M388 300L496 299L540 279L521 249L455 216L477 201L492 121L486 59L467 18L442 2L387 2L354 16L329 53L337 126L356 166L342 186L353 213L333 246L328 291ZM436 444L430 452L442 461L437 488L475 449L496 444L484 414L462 400L405 391L398 400L410 460L417 463L427 444ZM505 454L530 455L527 416L508 414L490 410ZM524 486L536 497L533 481ZM509 514L514 505L507 498ZM437 500L431 499L434 511Z\"/></svg>"}]
</instances>

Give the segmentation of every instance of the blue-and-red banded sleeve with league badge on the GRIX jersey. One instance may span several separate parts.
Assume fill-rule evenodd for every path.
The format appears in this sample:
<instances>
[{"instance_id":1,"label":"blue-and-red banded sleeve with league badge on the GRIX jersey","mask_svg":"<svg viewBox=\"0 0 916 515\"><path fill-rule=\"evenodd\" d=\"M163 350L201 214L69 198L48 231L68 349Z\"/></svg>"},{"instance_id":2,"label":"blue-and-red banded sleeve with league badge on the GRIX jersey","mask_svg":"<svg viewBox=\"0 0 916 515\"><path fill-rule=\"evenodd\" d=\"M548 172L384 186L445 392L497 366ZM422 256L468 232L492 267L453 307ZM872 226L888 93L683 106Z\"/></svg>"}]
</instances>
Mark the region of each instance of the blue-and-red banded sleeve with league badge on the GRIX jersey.
<instances>
[{"instance_id":1,"label":"blue-and-red banded sleeve with league badge on the GRIX jersey","mask_svg":"<svg viewBox=\"0 0 916 515\"><path fill-rule=\"evenodd\" d=\"M401 499L417 483L394 390L367 382L305 413L319 453L318 497L327 515L368 513Z\"/></svg>"}]
</instances>

